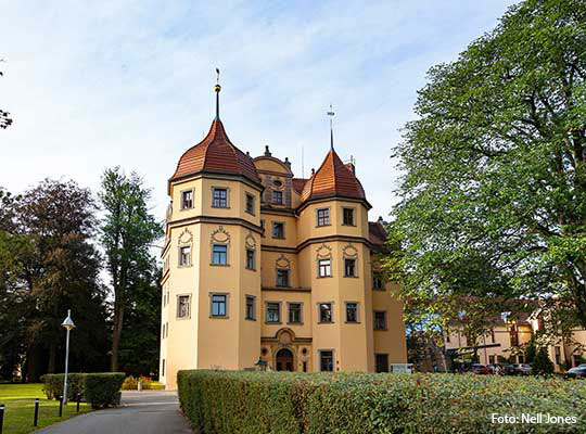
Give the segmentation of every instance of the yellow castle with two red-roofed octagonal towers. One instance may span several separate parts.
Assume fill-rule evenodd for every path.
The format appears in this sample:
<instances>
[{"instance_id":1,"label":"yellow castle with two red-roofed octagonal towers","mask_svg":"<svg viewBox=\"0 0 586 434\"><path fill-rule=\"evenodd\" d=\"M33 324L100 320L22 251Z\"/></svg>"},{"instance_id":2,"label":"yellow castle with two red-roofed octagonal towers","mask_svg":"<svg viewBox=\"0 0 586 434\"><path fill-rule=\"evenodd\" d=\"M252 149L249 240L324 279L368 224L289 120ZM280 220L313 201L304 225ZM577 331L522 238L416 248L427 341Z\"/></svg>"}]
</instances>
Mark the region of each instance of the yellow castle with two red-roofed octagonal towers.
<instances>
[{"instance_id":1,"label":"yellow castle with two red-roofed octagonal towers","mask_svg":"<svg viewBox=\"0 0 586 434\"><path fill-rule=\"evenodd\" d=\"M380 221L333 149L309 179L252 158L216 118L168 180L160 379L181 369L388 371L403 306L379 273ZM260 363L259 363L260 362Z\"/></svg>"}]
</instances>

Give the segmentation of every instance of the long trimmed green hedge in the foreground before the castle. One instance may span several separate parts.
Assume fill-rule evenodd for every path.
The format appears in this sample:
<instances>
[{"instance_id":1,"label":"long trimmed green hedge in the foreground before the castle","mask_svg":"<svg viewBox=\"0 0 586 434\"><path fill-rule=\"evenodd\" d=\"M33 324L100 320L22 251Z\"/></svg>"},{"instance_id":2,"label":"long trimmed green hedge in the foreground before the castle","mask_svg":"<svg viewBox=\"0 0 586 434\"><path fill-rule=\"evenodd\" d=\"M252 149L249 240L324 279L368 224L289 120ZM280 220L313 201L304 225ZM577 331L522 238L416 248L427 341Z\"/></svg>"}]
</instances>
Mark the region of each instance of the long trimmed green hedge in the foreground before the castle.
<instances>
[{"instance_id":1,"label":"long trimmed green hedge in the foreground before the castle","mask_svg":"<svg viewBox=\"0 0 586 434\"><path fill-rule=\"evenodd\" d=\"M586 382L472 374L180 371L194 429L221 433L586 432ZM577 423L492 423L492 414Z\"/></svg>"}]
</instances>

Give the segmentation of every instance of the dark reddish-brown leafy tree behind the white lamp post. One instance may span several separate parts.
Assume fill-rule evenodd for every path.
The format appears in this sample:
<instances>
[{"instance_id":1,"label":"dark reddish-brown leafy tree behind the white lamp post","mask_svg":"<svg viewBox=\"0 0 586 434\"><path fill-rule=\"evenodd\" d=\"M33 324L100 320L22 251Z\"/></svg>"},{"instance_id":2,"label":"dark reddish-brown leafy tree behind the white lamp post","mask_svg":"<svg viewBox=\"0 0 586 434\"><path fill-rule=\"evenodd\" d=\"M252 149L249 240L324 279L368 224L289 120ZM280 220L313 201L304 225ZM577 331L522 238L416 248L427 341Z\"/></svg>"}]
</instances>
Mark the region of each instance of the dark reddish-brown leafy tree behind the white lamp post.
<instances>
[{"instance_id":1,"label":"dark reddish-brown leafy tree behind the white lamp post","mask_svg":"<svg viewBox=\"0 0 586 434\"><path fill-rule=\"evenodd\" d=\"M104 293L91 192L73 181L46 180L0 209L0 294L7 299L2 336L10 360L24 362L30 381L63 367L72 309L72 369L100 369L106 341ZM2 352L3 353L3 352ZM7 371L9 368L7 368Z\"/></svg>"}]
</instances>

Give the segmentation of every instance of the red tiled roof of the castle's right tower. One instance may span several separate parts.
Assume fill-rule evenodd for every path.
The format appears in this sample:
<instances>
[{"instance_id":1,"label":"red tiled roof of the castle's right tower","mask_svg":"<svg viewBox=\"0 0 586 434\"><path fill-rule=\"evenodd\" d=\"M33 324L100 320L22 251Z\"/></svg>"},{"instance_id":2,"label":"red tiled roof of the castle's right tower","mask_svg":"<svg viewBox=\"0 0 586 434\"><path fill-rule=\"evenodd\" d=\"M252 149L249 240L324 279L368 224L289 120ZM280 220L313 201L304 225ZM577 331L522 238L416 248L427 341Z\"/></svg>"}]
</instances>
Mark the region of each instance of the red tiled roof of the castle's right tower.
<instances>
[{"instance_id":1,"label":"red tiled roof of the castle's right tower","mask_svg":"<svg viewBox=\"0 0 586 434\"><path fill-rule=\"evenodd\" d=\"M358 178L346 167L335 151L330 151L319 169L307 180L302 201L343 196L366 200Z\"/></svg>"}]
</instances>

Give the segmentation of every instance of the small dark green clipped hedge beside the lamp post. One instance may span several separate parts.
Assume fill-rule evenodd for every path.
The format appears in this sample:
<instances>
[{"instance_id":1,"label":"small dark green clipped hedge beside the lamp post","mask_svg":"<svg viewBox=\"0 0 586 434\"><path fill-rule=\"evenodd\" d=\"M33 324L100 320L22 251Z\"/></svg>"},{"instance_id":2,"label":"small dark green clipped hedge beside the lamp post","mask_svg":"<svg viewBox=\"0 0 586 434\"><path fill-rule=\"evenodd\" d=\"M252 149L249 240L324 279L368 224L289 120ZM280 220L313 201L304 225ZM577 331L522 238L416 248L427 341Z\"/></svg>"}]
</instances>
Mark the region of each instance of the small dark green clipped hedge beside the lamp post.
<instances>
[{"instance_id":1,"label":"small dark green clipped hedge beside the lamp post","mask_svg":"<svg viewBox=\"0 0 586 434\"><path fill-rule=\"evenodd\" d=\"M69 373L67 374L67 399L74 400L79 393L93 408L118 405L125 376L123 372ZM48 399L56 399L63 395L64 379L63 373L42 375L42 390Z\"/></svg>"}]
</instances>

